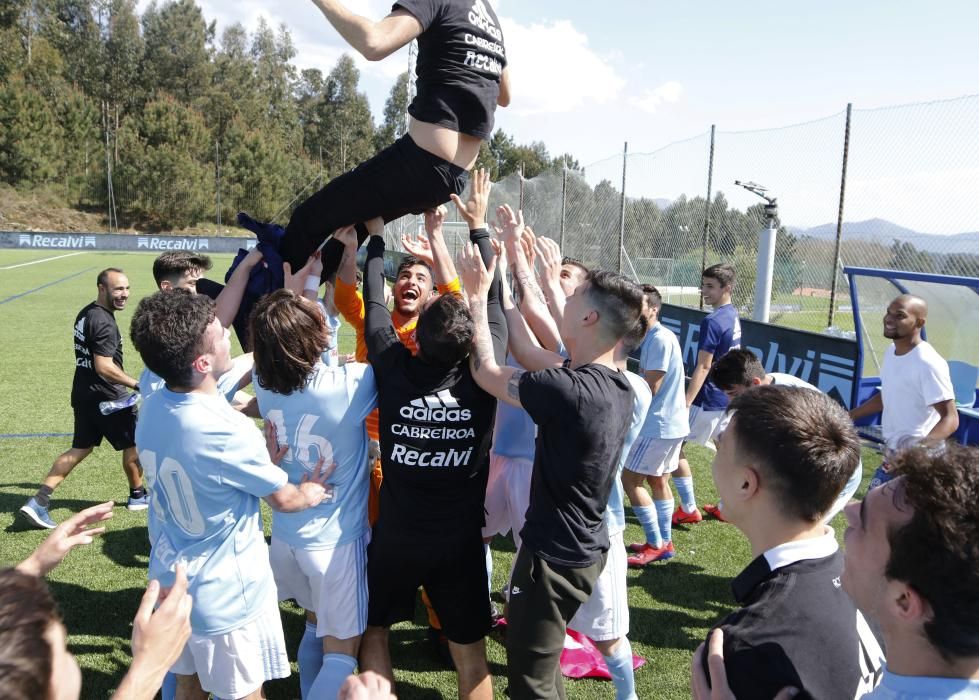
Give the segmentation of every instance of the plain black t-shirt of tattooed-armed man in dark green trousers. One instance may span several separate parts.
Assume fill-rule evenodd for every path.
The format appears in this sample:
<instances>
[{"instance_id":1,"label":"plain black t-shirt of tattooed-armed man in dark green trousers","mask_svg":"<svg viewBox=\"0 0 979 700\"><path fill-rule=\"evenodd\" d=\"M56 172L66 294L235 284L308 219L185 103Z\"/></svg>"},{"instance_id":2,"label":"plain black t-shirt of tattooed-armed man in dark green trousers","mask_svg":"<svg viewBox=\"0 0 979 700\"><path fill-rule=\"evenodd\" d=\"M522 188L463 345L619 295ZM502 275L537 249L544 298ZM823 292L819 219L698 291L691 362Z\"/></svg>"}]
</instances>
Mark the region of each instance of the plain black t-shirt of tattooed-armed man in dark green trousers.
<instances>
[{"instance_id":1,"label":"plain black t-shirt of tattooed-armed man in dark green trousers","mask_svg":"<svg viewBox=\"0 0 979 700\"><path fill-rule=\"evenodd\" d=\"M625 375L604 365L520 378L520 403L538 428L521 537L542 559L582 567L608 551L605 508L634 401Z\"/></svg>"}]
</instances>

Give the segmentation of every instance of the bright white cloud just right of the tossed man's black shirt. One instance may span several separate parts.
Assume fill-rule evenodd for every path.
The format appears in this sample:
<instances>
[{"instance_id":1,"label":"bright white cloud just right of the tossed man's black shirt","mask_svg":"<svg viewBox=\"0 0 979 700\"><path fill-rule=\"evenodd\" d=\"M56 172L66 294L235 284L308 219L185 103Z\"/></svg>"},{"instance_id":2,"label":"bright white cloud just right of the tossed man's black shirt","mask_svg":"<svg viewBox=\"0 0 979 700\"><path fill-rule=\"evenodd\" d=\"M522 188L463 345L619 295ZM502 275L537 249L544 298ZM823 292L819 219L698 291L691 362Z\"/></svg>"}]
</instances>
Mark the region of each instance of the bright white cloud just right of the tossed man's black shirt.
<instances>
[{"instance_id":1,"label":"bright white cloud just right of the tossed man's black shirt","mask_svg":"<svg viewBox=\"0 0 979 700\"><path fill-rule=\"evenodd\" d=\"M521 25L500 17L510 66L511 110L560 114L615 99L625 85L568 20Z\"/></svg>"}]
</instances>

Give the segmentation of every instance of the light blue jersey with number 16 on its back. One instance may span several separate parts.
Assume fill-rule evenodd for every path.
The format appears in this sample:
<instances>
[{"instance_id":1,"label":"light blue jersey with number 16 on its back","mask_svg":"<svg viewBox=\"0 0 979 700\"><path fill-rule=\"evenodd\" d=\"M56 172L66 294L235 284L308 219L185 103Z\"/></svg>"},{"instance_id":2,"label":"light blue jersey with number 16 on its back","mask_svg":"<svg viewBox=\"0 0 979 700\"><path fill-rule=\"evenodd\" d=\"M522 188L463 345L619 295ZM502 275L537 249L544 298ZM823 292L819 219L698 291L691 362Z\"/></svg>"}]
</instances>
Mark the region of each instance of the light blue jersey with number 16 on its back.
<instances>
[{"instance_id":1,"label":"light blue jersey with number 16 on its back","mask_svg":"<svg viewBox=\"0 0 979 700\"><path fill-rule=\"evenodd\" d=\"M343 367L316 365L308 386L289 395L263 388L253 378L258 411L275 425L289 451L281 467L298 484L320 457L336 463L330 477L333 497L299 513L273 513L272 536L290 547L327 549L367 532L369 468L364 419L377 406L374 370L359 362Z\"/></svg>"}]
</instances>

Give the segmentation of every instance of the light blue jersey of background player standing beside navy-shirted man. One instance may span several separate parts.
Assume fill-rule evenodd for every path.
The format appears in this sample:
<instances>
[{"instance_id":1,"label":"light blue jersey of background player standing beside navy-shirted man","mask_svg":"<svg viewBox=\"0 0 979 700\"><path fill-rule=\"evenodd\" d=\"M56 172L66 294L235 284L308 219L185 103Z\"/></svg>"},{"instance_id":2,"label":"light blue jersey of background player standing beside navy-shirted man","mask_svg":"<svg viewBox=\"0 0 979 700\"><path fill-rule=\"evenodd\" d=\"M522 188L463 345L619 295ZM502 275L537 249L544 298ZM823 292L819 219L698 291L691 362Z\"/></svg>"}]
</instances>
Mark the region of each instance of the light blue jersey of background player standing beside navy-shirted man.
<instances>
[{"instance_id":1,"label":"light blue jersey of background player standing beside navy-shirted man","mask_svg":"<svg viewBox=\"0 0 979 700\"><path fill-rule=\"evenodd\" d=\"M642 341L639 371L643 376L646 372L665 372L639 434L660 440L676 440L689 435L683 353L676 334L662 323L650 328Z\"/></svg>"}]
</instances>

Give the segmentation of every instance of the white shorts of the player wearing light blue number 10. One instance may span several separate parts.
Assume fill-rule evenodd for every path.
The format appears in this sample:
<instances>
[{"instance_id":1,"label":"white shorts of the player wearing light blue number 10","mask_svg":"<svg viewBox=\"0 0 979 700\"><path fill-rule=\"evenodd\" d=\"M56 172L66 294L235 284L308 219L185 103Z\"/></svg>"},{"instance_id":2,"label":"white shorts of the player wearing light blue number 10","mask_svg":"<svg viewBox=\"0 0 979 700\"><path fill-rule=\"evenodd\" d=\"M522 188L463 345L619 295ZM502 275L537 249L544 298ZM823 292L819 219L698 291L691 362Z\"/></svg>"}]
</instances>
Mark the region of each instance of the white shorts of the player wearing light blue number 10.
<instances>
[{"instance_id":1,"label":"white shorts of the player wearing light blue number 10","mask_svg":"<svg viewBox=\"0 0 979 700\"><path fill-rule=\"evenodd\" d=\"M197 674L201 688L218 698L243 698L273 678L289 677L282 618L274 596L262 614L225 634L191 634L176 663L179 676Z\"/></svg>"}]
</instances>

